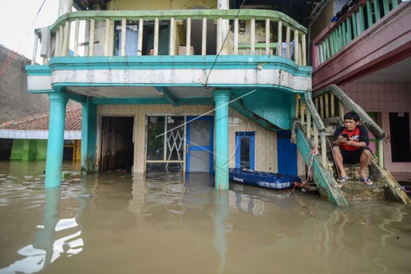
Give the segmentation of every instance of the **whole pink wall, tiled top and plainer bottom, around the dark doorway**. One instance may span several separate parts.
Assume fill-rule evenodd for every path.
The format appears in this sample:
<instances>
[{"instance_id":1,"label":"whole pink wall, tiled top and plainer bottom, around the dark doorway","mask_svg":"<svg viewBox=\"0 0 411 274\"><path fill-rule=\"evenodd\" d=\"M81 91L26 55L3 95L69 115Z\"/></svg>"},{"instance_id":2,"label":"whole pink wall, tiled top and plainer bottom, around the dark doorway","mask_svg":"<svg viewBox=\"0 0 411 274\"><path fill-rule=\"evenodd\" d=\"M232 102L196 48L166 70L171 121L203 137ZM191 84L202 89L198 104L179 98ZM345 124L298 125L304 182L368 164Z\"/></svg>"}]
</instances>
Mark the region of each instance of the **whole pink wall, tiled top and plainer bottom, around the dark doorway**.
<instances>
[{"instance_id":1,"label":"whole pink wall, tiled top and plainer bottom, around the dark doorway","mask_svg":"<svg viewBox=\"0 0 411 274\"><path fill-rule=\"evenodd\" d=\"M381 113L382 119L378 121L378 124L382 125L386 136L390 132L390 112L408 112L411 116L411 83L349 83L340 87L364 111ZM411 132L411 123L407 130ZM391 161L389 139L387 143L384 143L384 164L390 172L409 172L411 170L411 162Z\"/></svg>"}]
</instances>

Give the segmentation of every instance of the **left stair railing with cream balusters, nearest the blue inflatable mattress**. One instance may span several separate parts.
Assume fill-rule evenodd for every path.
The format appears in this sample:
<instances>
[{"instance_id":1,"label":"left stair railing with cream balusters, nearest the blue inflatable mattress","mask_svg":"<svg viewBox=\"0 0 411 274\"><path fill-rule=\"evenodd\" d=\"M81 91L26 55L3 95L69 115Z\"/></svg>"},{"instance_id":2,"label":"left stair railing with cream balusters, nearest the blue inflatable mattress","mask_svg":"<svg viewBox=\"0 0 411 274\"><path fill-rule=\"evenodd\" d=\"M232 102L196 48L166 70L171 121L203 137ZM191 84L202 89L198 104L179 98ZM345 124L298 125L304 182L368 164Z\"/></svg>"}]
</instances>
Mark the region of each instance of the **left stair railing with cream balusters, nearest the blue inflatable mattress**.
<instances>
[{"instance_id":1,"label":"left stair railing with cream balusters, nearest the blue inflatable mattress","mask_svg":"<svg viewBox=\"0 0 411 274\"><path fill-rule=\"evenodd\" d=\"M318 148L321 148L321 162L324 168L327 167L327 151L326 151L326 136L325 125L321 116L311 99L311 92L304 94L304 99L300 95L295 96L295 118L300 117L300 123L305 125L305 134L309 142L312 144L312 148L315 152L318 152ZM312 136L311 141L311 124L312 124ZM320 135L320 140L319 140ZM320 141L320 142L319 142Z\"/></svg>"}]
</instances>

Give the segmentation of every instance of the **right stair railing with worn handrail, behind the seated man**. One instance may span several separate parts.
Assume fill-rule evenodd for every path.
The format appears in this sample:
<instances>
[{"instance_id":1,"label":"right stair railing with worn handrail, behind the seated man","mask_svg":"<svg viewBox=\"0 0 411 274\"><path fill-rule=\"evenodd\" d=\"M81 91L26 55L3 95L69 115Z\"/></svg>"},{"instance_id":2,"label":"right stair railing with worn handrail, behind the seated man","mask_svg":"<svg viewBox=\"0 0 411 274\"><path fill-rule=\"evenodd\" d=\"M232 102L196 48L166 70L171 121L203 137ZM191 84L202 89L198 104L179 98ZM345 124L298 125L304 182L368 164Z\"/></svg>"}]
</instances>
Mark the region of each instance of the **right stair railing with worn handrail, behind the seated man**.
<instances>
[{"instance_id":1,"label":"right stair railing with worn handrail, behind the seated man","mask_svg":"<svg viewBox=\"0 0 411 274\"><path fill-rule=\"evenodd\" d=\"M356 112L360 116L361 123L378 139L378 165L384 168L385 133L361 106L352 101L337 85L329 85L315 92L312 98L321 119L334 117L335 111L338 111L338 116L344 122L345 108Z\"/></svg>"}]
</instances>

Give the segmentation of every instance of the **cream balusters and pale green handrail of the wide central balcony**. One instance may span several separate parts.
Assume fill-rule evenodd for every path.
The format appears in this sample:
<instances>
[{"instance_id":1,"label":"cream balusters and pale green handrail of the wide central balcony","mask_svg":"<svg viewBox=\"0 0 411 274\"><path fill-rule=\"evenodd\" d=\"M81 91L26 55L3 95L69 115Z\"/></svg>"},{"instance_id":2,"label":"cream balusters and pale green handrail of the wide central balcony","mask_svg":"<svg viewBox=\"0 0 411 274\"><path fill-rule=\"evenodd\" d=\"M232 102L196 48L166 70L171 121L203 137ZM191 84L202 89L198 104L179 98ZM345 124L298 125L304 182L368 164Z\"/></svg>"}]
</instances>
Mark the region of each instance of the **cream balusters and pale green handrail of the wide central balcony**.
<instances>
[{"instance_id":1,"label":"cream balusters and pale green handrail of the wide central balcony","mask_svg":"<svg viewBox=\"0 0 411 274\"><path fill-rule=\"evenodd\" d=\"M49 30L54 47L44 64L57 56L148 55L152 46L154 56L274 54L307 65L307 29L270 10L78 11L59 17ZM32 63L39 40L46 41L44 29L35 33Z\"/></svg>"}]
</instances>

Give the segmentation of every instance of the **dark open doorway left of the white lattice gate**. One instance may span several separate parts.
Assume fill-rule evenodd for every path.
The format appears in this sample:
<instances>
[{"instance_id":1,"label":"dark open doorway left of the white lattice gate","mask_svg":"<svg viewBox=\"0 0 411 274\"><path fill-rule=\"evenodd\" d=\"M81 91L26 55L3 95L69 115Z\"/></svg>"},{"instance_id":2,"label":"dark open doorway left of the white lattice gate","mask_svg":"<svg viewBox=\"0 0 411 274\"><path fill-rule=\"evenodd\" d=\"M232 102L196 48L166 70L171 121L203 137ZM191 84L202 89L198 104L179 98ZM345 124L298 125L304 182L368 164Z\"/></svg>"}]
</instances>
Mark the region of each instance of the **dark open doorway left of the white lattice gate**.
<instances>
[{"instance_id":1,"label":"dark open doorway left of the white lattice gate","mask_svg":"<svg viewBox=\"0 0 411 274\"><path fill-rule=\"evenodd\" d=\"M134 117L102 117L101 171L132 171Z\"/></svg>"}]
</instances>

